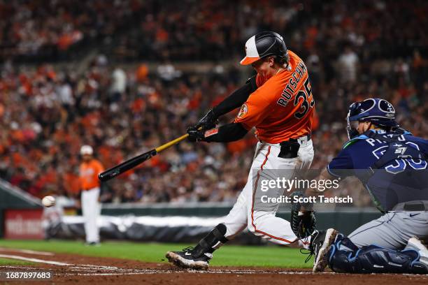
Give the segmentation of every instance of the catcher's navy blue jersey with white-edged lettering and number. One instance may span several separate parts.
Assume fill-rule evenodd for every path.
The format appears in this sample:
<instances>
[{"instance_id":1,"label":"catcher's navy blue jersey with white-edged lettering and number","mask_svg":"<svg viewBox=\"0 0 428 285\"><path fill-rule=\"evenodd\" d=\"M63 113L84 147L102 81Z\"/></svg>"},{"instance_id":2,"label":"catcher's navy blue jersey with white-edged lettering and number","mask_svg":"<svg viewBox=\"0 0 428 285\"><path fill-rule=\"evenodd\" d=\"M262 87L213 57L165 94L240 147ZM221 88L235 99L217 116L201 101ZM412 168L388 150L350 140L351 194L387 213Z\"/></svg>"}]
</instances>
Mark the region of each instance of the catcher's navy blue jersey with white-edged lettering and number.
<instances>
[{"instance_id":1,"label":"catcher's navy blue jersey with white-edged lettering and number","mask_svg":"<svg viewBox=\"0 0 428 285\"><path fill-rule=\"evenodd\" d=\"M358 177L382 212L398 203L428 200L428 140L407 131L400 135L371 132L346 142L327 166L328 172L335 177ZM380 140L376 134L394 142Z\"/></svg>"}]
</instances>

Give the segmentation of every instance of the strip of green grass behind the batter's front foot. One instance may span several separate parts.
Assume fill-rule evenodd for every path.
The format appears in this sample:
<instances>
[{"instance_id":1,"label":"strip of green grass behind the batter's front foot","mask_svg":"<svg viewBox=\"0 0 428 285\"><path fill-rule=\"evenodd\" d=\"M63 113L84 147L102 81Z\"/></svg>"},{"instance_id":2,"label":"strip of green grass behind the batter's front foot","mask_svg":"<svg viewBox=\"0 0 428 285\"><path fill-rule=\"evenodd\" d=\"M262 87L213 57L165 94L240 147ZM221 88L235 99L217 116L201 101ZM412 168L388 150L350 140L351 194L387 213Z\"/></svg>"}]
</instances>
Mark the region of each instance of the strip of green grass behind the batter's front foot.
<instances>
[{"instance_id":1,"label":"strip of green grass behind the batter's front foot","mask_svg":"<svg viewBox=\"0 0 428 285\"><path fill-rule=\"evenodd\" d=\"M164 258L166 251L178 251L188 245L190 244L103 242L101 247L85 247L83 242L66 240L0 240L0 247L125 258L155 263L166 262L166 258ZM300 254L299 249L227 244L215 251L211 265L311 268L311 262L304 263L305 258L306 256Z\"/></svg>"}]
</instances>

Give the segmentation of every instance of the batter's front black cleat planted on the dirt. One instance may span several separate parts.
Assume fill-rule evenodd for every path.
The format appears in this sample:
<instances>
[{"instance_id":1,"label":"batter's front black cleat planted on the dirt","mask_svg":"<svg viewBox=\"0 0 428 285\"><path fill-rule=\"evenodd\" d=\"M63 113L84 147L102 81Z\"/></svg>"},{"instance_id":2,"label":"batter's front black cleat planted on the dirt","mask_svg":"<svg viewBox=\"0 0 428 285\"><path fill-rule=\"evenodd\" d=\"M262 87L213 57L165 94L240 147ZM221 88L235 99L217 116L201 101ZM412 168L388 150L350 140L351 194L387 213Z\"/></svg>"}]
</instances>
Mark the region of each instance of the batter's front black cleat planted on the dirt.
<instances>
[{"instance_id":1,"label":"batter's front black cleat planted on the dirt","mask_svg":"<svg viewBox=\"0 0 428 285\"><path fill-rule=\"evenodd\" d=\"M202 254L194 256L192 253L193 247L186 247L183 251L168 251L166 258L168 261L180 268L192 268L196 270L208 270L209 262L213 258L213 254Z\"/></svg>"}]
</instances>

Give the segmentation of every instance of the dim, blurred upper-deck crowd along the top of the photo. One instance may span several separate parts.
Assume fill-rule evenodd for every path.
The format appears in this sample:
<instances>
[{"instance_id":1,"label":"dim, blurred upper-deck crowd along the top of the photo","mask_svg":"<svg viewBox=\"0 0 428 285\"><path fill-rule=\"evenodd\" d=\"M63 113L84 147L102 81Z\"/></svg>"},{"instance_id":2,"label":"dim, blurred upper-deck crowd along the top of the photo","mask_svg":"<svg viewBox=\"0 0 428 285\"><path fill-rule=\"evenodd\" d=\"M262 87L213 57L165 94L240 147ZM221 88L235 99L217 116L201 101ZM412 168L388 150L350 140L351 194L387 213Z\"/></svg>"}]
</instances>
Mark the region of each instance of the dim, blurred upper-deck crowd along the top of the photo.
<instances>
[{"instance_id":1,"label":"dim, blurred upper-deck crowd along the top of the photo","mask_svg":"<svg viewBox=\"0 0 428 285\"><path fill-rule=\"evenodd\" d=\"M263 29L305 56L335 59L352 45L364 60L392 58L426 49L427 12L423 0L0 1L0 59L70 59L93 46L120 60L225 60Z\"/></svg>"}]
</instances>

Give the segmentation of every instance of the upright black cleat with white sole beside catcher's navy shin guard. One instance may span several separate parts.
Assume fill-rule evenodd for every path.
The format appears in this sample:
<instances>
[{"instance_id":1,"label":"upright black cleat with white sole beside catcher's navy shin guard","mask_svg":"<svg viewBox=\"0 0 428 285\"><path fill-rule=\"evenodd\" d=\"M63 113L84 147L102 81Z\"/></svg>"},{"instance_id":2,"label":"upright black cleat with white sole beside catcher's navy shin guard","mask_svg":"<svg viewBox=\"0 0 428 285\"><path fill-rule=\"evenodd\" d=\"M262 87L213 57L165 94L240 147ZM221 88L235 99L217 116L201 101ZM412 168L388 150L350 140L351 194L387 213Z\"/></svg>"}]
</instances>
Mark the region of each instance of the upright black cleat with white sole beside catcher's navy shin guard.
<instances>
[{"instance_id":1,"label":"upright black cleat with white sole beside catcher's navy shin guard","mask_svg":"<svg viewBox=\"0 0 428 285\"><path fill-rule=\"evenodd\" d=\"M309 250L311 254L315 254L312 272L324 272L328 265L329 248L336 240L337 231L334 228L329 228L327 231L315 233L311 238Z\"/></svg>"}]
</instances>

